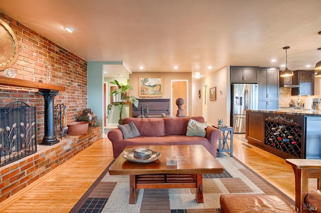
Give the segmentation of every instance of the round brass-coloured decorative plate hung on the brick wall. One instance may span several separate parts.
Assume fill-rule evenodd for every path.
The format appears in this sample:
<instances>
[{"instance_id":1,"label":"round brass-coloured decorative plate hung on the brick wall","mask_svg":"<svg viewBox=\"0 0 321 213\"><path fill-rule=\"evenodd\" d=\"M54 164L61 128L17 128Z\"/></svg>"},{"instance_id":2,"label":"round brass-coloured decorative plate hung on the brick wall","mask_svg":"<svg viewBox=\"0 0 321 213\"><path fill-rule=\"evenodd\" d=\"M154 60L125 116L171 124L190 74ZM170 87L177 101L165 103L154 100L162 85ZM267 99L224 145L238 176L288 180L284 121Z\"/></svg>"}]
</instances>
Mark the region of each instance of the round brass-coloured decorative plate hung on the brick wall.
<instances>
[{"instance_id":1,"label":"round brass-coloured decorative plate hung on the brick wall","mask_svg":"<svg viewBox=\"0 0 321 213\"><path fill-rule=\"evenodd\" d=\"M12 28L0 18L0 70L15 64L19 54L19 42Z\"/></svg>"}]
</instances>

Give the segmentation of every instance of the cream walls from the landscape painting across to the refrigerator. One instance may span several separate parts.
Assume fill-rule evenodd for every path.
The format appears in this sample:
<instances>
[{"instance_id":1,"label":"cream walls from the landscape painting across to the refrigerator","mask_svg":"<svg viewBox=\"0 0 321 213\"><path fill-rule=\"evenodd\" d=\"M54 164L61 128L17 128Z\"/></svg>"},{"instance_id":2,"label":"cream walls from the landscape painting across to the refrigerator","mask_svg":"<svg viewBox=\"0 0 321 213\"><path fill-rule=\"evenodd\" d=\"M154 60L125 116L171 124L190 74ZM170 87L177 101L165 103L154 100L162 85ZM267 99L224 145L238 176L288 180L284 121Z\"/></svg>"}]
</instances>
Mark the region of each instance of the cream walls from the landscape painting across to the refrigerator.
<instances>
[{"instance_id":1,"label":"cream walls from the landscape painting across to the refrigerator","mask_svg":"<svg viewBox=\"0 0 321 213\"><path fill-rule=\"evenodd\" d=\"M230 67L226 66L219 70L204 76L200 79L192 77L192 72L133 72L129 75L130 85L133 89L130 90L130 95L138 97L139 94L139 76L163 76L163 96L162 98L171 98L171 80L172 79L187 79L189 81L189 115L203 116L202 114L202 98L198 97L198 90L202 90L202 86L207 84L209 88L216 86L217 98L216 100L209 100L208 98L208 117L207 122L217 124L218 118L224 119L224 124L230 125ZM202 72L201 72L202 73ZM222 91L222 93L220 93Z\"/></svg>"}]
</instances>

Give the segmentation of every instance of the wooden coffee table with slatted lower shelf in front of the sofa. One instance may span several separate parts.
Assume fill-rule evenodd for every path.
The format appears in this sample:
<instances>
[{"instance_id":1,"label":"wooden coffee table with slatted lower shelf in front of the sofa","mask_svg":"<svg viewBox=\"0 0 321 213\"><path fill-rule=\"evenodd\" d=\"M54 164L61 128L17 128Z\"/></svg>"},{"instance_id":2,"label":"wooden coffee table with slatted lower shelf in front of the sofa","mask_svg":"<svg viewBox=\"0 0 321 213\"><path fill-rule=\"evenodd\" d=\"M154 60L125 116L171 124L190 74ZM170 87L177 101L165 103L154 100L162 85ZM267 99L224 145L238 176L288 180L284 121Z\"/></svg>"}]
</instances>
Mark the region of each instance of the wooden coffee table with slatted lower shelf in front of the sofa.
<instances>
[{"instance_id":1,"label":"wooden coffee table with slatted lower shelf in front of the sofa","mask_svg":"<svg viewBox=\"0 0 321 213\"><path fill-rule=\"evenodd\" d=\"M203 199L203 173L222 173L223 166L203 145L146 145L161 157L149 163L126 160L121 154L109 167L109 174L129 175L129 203L136 203L138 188L196 188L196 201ZM167 156L177 157L176 165L166 165Z\"/></svg>"}]
</instances>

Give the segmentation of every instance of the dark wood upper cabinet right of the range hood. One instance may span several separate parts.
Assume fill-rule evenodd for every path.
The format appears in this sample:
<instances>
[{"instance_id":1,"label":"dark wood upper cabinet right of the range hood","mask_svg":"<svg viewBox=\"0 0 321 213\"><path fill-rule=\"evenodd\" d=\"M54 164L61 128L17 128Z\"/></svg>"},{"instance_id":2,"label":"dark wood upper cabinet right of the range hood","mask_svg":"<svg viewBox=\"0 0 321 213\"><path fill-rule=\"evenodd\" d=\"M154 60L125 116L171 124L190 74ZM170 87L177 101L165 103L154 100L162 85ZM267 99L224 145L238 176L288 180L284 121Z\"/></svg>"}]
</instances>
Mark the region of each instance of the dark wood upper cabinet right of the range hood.
<instances>
[{"instance_id":1,"label":"dark wood upper cabinet right of the range hood","mask_svg":"<svg viewBox=\"0 0 321 213\"><path fill-rule=\"evenodd\" d=\"M292 95L313 95L314 94L314 71L295 70L293 71L292 83L300 87L292 88Z\"/></svg>"}]
</instances>

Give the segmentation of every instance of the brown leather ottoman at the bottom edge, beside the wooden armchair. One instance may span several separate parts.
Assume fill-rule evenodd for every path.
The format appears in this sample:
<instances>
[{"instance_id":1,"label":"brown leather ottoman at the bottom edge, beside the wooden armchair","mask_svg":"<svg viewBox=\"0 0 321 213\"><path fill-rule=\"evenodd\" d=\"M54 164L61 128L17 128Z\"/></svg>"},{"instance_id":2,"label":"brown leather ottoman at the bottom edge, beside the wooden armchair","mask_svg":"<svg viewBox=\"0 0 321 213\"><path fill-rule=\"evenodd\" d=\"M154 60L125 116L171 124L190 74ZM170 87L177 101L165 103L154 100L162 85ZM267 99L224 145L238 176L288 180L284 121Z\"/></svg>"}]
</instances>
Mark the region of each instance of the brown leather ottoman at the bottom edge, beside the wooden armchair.
<instances>
[{"instance_id":1,"label":"brown leather ottoman at the bottom edge, beside the wooden armchair","mask_svg":"<svg viewBox=\"0 0 321 213\"><path fill-rule=\"evenodd\" d=\"M222 194L220 204L221 213L296 212L278 196L267 194Z\"/></svg>"}]
</instances>

